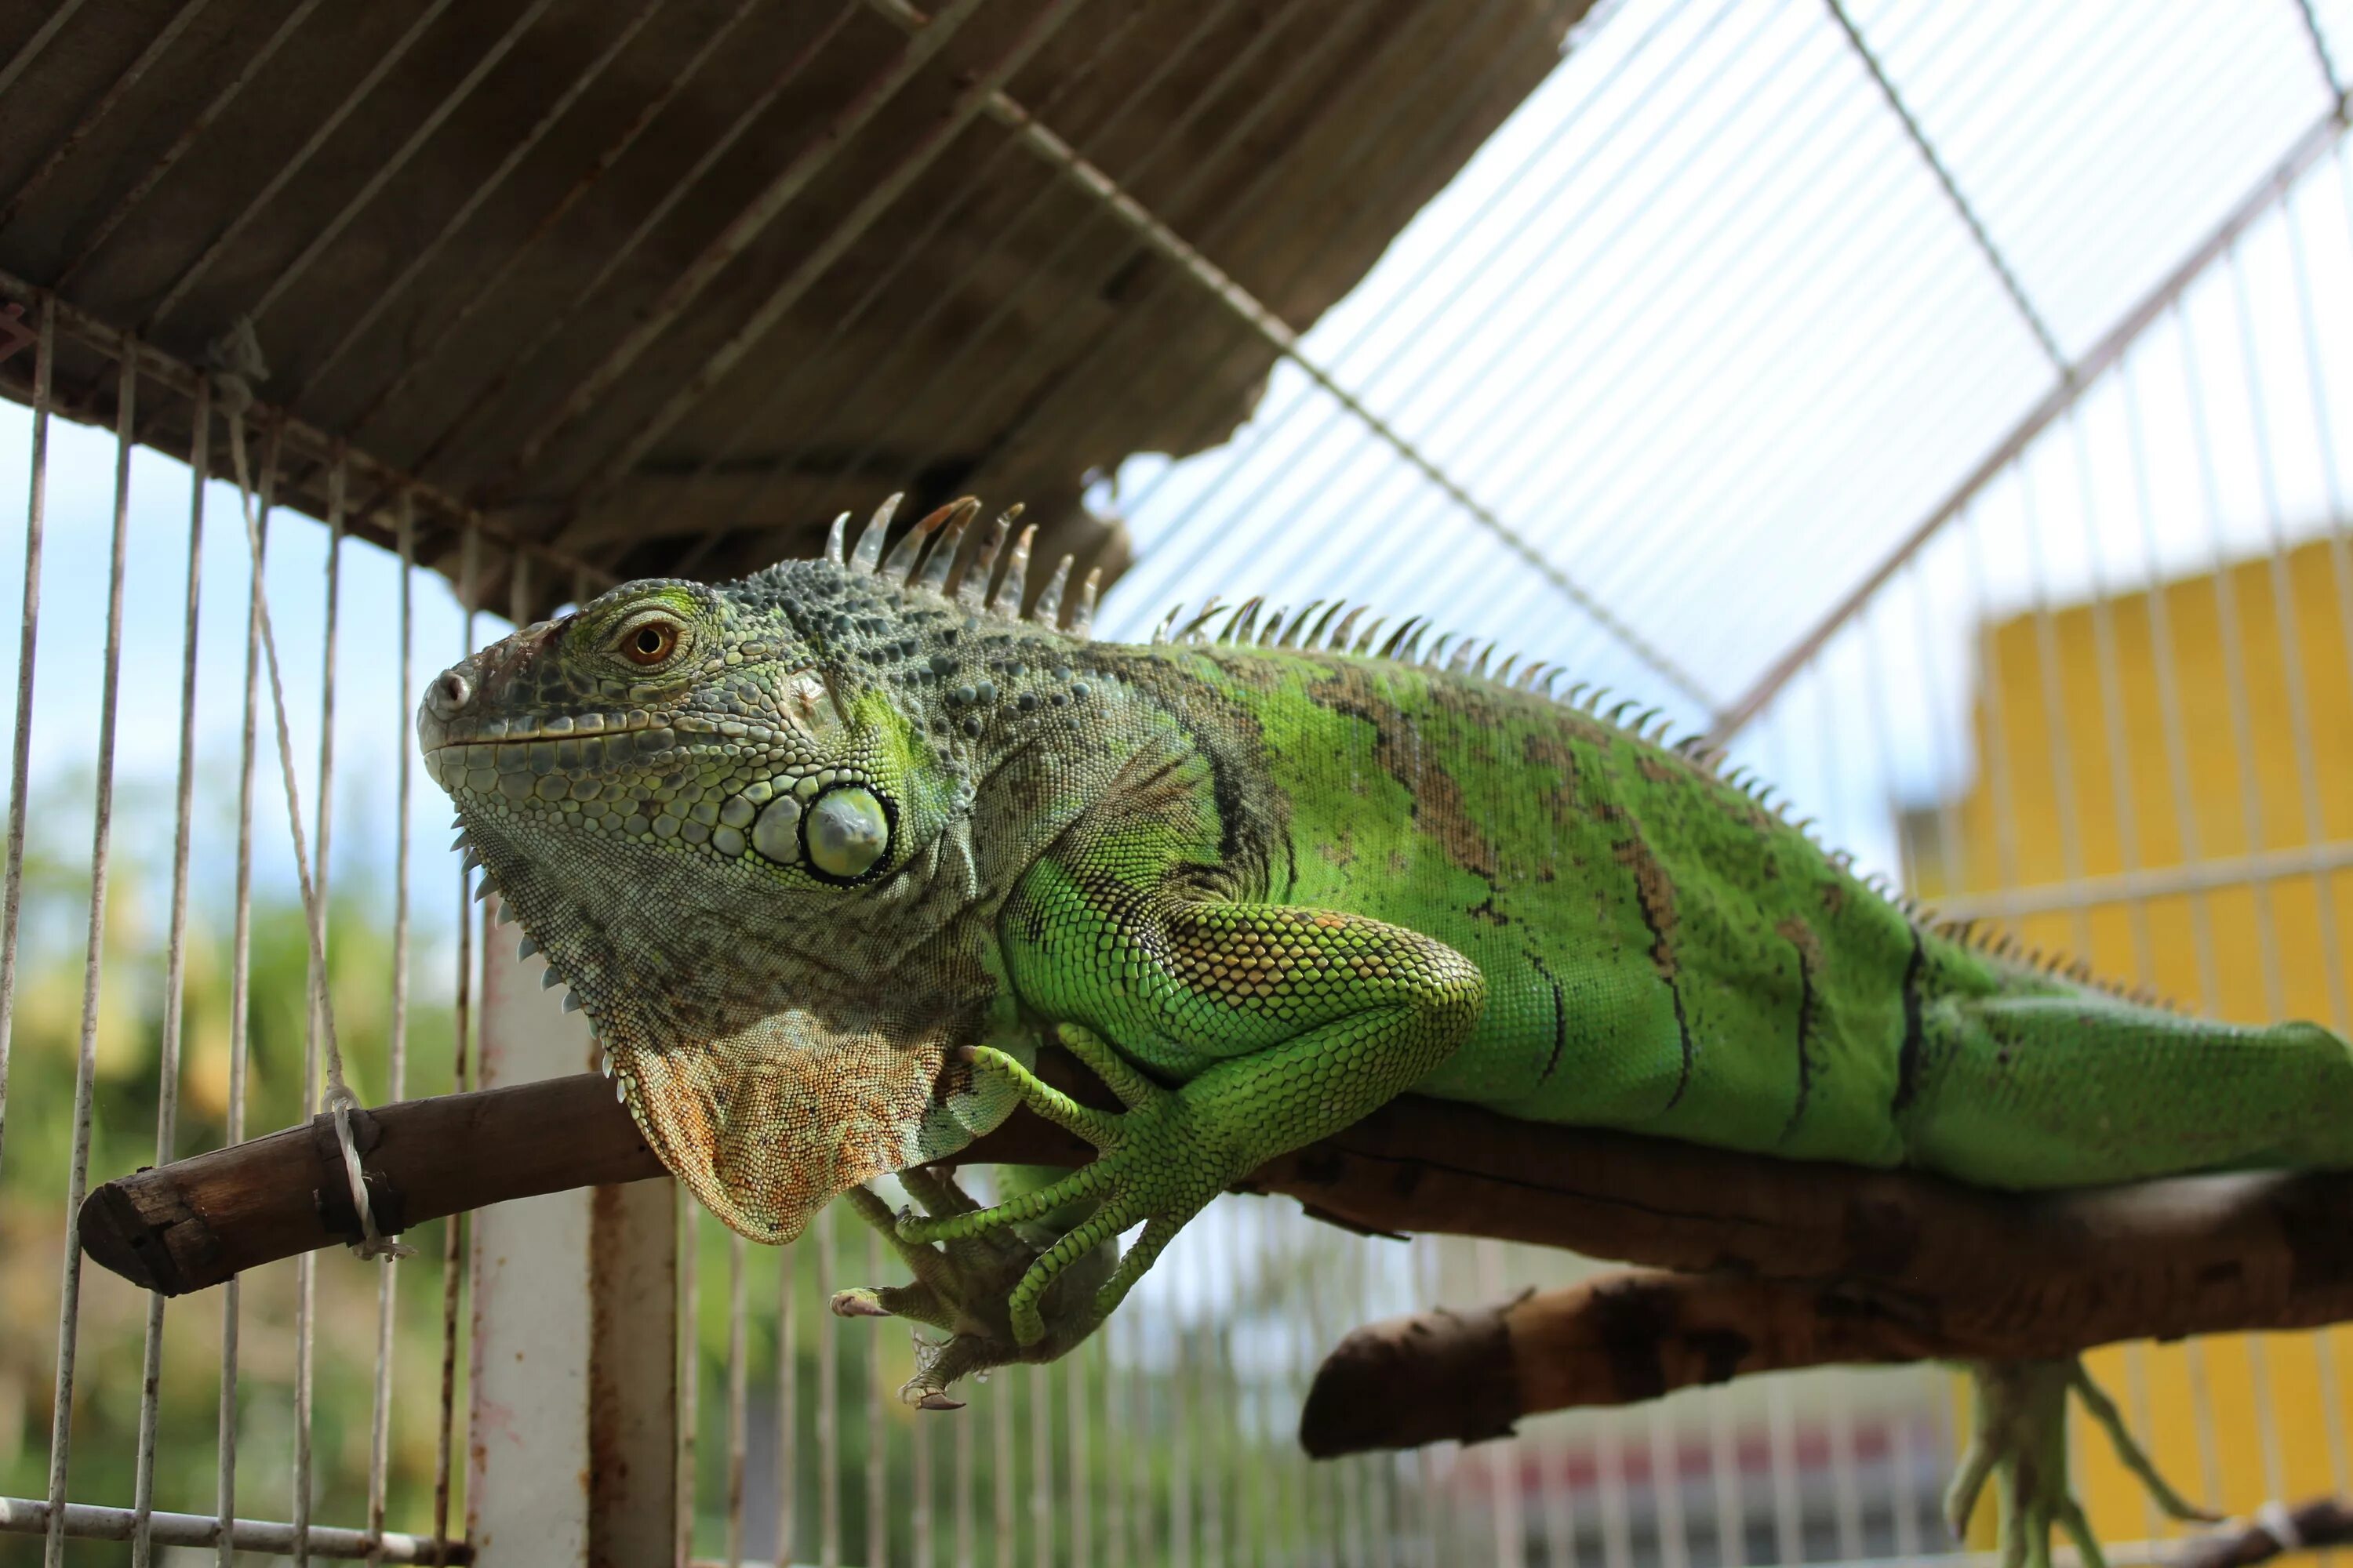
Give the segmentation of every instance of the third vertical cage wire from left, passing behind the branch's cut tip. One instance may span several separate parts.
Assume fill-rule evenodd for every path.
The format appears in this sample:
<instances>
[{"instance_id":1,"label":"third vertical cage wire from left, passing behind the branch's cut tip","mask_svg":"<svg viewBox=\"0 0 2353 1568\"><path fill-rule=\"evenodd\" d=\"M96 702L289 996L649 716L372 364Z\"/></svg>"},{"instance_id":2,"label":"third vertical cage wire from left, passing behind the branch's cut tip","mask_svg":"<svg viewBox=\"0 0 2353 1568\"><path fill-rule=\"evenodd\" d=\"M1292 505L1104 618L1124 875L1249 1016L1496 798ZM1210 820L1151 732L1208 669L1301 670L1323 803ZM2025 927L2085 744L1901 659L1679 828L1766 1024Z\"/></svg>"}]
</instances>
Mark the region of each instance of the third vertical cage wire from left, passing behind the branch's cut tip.
<instances>
[{"instance_id":1,"label":"third vertical cage wire from left, passing behind the branch's cut tip","mask_svg":"<svg viewBox=\"0 0 2353 1568\"><path fill-rule=\"evenodd\" d=\"M188 597L184 604L179 651L179 776L172 799L172 914L162 964L162 1039L155 1063L155 1164L169 1164L179 1133L179 1037L188 990L188 842L195 818L195 632L202 607L205 550L205 475L212 435L212 383L195 383L188 437ZM153 1559L155 1514L155 1420L162 1394L162 1302L148 1293L144 1371L139 1378L139 1455L132 1481L132 1568Z\"/></svg>"}]
</instances>

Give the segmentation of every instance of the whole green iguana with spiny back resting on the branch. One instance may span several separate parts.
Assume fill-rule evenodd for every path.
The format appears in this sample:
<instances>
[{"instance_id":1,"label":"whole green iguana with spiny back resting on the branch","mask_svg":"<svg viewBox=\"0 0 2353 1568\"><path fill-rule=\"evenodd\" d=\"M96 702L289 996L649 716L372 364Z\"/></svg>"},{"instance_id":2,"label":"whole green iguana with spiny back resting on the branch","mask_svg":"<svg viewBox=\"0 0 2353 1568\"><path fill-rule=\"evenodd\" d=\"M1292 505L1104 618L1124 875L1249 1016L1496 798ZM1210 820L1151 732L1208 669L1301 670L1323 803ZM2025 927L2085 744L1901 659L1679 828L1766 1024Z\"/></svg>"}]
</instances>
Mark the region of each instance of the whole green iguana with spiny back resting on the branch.
<instances>
[{"instance_id":1,"label":"whole green iguana with spiny back resting on the branch","mask_svg":"<svg viewBox=\"0 0 2353 1568\"><path fill-rule=\"evenodd\" d=\"M842 1192L894 1237L915 1284L835 1309L948 1331L915 1403L1061 1354L1212 1197L1407 1091L1993 1187L2353 1164L2353 1051L2315 1025L2184 1018L1934 926L1649 715L1424 654L1419 621L1252 599L1094 644L1092 581L1059 628L1068 559L1021 621L1009 517L951 590L976 510L887 557L889 505L824 559L621 585L419 712L664 1164L758 1241ZM1045 1030L1125 1112L1031 1074ZM993 1208L925 1168L1016 1103L1094 1164ZM889 1171L929 1215L859 1187ZM1951 1505L1995 1467L2005 1554L2092 1549L2080 1371L1979 1387Z\"/></svg>"}]
</instances>

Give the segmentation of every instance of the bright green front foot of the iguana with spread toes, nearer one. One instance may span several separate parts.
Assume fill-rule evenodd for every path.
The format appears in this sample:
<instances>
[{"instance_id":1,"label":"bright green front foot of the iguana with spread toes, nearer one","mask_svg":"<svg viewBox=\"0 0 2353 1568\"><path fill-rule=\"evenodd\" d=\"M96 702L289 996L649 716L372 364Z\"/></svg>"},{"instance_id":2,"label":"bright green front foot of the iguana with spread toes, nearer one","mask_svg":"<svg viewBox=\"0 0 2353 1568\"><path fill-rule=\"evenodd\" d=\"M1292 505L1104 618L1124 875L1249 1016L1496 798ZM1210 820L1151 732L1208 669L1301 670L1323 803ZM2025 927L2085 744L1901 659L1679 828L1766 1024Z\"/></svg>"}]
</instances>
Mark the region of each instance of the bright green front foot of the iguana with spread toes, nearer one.
<instances>
[{"instance_id":1,"label":"bright green front foot of the iguana with spread toes, nearer one","mask_svg":"<svg viewBox=\"0 0 2353 1568\"><path fill-rule=\"evenodd\" d=\"M995 1070L1019 1091L1021 1100L1047 1121L1078 1133L1096 1147L1096 1159L1038 1192L1026 1192L993 1208L946 1218L899 1220L901 1241L967 1241L1049 1215L1078 1201L1094 1211L1038 1253L1007 1298L1007 1319L1019 1345L1035 1345L1047 1333L1045 1300L1056 1286L1068 1295L1068 1281L1080 1258L1092 1258L1122 1232L1141 1225L1144 1234L1120 1255L1108 1281L1094 1288L1092 1316L1101 1321L1120 1305L1160 1248L1226 1190L1247 1159L1231 1159L1212 1128L1198 1126L1184 1095L1160 1088L1106 1041L1075 1025L1061 1025L1061 1044L1087 1063L1120 1098L1125 1112L1099 1112L1040 1081L1028 1067L988 1046L969 1046L972 1063Z\"/></svg>"}]
</instances>

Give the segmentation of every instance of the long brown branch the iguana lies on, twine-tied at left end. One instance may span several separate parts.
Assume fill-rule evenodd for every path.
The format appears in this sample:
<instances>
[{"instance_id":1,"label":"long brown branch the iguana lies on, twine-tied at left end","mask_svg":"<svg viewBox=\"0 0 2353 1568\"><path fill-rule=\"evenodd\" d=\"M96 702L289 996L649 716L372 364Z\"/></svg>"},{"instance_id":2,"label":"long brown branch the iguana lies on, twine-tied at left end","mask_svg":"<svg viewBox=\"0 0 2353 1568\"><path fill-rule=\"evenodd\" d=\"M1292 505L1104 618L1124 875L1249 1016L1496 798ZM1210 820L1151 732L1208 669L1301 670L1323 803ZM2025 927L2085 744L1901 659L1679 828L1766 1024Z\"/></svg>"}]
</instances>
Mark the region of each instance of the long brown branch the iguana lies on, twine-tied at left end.
<instances>
[{"instance_id":1,"label":"long brown branch the iguana lies on, twine-tied at left end","mask_svg":"<svg viewBox=\"0 0 2353 1568\"><path fill-rule=\"evenodd\" d=\"M1042 1072L1101 1103L1056 1051ZM355 1117L379 1227L593 1182L656 1175L595 1077L386 1105ZM1021 1114L965 1159L1078 1164L1085 1145ZM1626 1133L1395 1100L1249 1180L1367 1232L1567 1246L1649 1267L1840 1286L1932 1347L2033 1324L2052 1352L2118 1338L2306 1328L2353 1319L2353 1173L2209 1175L2000 1194ZM92 1192L82 1244L167 1291L351 1241L332 1126L144 1171ZM1828 1300L1828 1298L1826 1298ZM2024 1333L2024 1331L2019 1331Z\"/></svg>"}]
</instances>

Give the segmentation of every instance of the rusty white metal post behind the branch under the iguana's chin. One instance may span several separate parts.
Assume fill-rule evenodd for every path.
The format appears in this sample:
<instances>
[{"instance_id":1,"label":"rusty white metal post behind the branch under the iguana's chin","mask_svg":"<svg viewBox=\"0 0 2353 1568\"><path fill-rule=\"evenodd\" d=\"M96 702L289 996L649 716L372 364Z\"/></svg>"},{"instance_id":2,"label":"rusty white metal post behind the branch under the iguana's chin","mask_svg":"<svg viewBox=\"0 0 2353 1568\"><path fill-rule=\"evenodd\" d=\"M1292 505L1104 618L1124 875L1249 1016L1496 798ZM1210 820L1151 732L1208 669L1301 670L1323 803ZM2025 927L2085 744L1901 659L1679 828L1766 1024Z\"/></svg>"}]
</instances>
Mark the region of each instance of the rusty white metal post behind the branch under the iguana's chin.
<instances>
[{"instance_id":1,"label":"rusty white metal post behind the branch under the iguana's chin","mask_svg":"<svg viewBox=\"0 0 2353 1568\"><path fill-rule=\"evenodd\" d=\"M544 978L492 938L485 1088L595 1067L586 1018ZM466 1516L485 1568L671 1561L675 1253L661 1182L475 1215Z\"/></svg>"}]
</instances>

